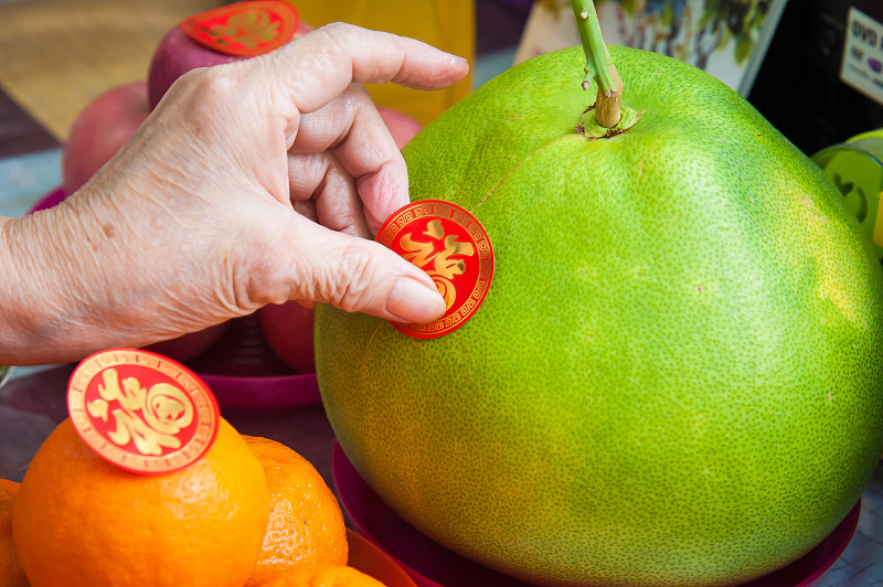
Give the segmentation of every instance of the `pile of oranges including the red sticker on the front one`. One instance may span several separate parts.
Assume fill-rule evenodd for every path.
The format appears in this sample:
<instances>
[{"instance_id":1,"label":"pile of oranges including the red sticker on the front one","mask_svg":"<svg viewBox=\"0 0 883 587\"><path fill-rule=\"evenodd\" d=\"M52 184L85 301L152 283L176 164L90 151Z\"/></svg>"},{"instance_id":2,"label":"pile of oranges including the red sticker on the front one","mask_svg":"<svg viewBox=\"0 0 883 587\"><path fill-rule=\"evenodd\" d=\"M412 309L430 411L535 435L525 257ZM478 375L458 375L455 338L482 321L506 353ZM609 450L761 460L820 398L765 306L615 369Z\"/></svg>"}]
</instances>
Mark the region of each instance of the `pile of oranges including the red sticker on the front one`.
<instances>
[{"instance_id":1,"label":"pile of oranges including the red sticker on the front one","mask_svg":"<svg viewBox=\"0 0 883 587\"><path fill-rule=\"evenodd\" d=\"M187 377L143 351L79 365L71 417L21 483L0 480L0 585L381 587L348 566L341 510L312 465L241 435L216 404L188 404L194 386L211 394ZM82 404L72 399L77 381ZM188 436L191 427L214 436Z\"/></svg>"}]
</instances>

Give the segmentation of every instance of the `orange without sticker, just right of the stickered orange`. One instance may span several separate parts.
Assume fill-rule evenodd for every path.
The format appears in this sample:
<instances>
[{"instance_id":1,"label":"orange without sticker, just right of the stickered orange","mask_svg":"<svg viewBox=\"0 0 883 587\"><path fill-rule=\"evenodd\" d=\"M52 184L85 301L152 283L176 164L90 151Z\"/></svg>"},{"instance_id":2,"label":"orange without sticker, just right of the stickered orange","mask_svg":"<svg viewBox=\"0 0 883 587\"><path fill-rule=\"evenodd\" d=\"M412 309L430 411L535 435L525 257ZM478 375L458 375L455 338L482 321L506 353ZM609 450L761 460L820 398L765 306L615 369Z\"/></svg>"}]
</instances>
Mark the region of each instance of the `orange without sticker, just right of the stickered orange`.
<instances>
[{"instance_id":1,"label":"orange without sticker, just right of the stickered orange","mask_svg":"<svg viewBox=\"0 0 883 587\"><path fill-rule=\"evenodd\" d=\"M252 585L266 585L283 573L307 577L325 565L345 565L343 514L322 476L285 445L243 438L264 467L270 494L269 520Z\"/></svg>"}]
</instances>

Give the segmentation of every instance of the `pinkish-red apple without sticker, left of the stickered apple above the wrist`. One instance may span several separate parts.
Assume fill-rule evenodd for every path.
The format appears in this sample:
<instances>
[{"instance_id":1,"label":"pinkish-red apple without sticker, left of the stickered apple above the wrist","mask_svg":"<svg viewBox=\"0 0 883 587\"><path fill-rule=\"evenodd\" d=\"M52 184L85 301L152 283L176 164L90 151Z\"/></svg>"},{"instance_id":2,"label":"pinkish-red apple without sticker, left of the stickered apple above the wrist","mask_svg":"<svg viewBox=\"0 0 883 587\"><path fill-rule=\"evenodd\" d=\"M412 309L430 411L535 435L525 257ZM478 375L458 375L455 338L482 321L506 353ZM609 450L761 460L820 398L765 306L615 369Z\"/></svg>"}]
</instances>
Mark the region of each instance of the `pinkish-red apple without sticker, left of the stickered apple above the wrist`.
<instances>
[{"instance_id":1,"label":"pinkish-red apple without sticker, left of the stickered apple above the wrist","mask_svg":"<svg viewBox=\"0 0 883 587\"><path fill-rule=\"evenodd\" d=\"M74 119L62 152L64 193L78 190L110 160L145 121L147 83L132 82L105 92Z\"/></svg>"}]
</instances>

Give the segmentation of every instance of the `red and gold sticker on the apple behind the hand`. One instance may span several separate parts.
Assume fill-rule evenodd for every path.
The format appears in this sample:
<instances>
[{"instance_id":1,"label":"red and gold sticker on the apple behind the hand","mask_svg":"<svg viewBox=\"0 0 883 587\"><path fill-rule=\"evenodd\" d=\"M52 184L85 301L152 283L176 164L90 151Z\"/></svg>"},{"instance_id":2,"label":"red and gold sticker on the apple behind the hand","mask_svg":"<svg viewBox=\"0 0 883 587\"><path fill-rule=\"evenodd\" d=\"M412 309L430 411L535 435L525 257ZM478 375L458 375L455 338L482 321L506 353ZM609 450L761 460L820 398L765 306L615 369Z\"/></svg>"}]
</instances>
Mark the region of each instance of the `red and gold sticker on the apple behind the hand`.
<instances>
[{"instance_id":1,"label":"red and gold sticker on the apple behind the hand","mask_svg":"<svg viewBox=\"0 0 883 587\"><path fill-rule=\"evenodd\" d=\"M299 20L295 7L284 0L252 0L188 17L181 29L203 46L252 57L289 42Z\"/></svg>"}]
</instances>

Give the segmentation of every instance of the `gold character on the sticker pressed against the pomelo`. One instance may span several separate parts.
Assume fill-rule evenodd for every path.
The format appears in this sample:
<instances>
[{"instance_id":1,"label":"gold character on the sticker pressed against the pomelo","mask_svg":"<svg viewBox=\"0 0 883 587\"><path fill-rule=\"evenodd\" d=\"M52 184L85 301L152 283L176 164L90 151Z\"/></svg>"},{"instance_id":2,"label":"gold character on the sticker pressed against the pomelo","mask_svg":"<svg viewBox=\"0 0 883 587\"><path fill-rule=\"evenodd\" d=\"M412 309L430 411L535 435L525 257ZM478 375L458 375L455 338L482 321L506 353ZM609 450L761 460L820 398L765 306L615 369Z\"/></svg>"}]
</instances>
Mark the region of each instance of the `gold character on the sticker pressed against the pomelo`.
<instances>
[{"instance_id":1,"label":"gold character on the sticker pressed against the pomelo","mask_svg":"<svg viewBox=\"0 0 883 587\"><path fill-rule=\"evenodd\" d=\"M428 222L423 235L428 236L430 241L416 241L413 233L407 233L398 239L398 245L404 252L402 257L424 269L433 278L449 310L457 298L453 279L466 271L464 257L474 256L476 249L471 243L457 241L455 235L445 236L444 226L438 220ZM443 239L445 248L436 250L437 242ZM432 268L426 269L430 263Z\"/></svg>"}]
</instances>

